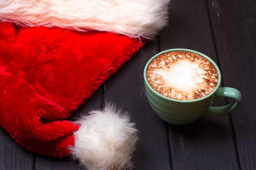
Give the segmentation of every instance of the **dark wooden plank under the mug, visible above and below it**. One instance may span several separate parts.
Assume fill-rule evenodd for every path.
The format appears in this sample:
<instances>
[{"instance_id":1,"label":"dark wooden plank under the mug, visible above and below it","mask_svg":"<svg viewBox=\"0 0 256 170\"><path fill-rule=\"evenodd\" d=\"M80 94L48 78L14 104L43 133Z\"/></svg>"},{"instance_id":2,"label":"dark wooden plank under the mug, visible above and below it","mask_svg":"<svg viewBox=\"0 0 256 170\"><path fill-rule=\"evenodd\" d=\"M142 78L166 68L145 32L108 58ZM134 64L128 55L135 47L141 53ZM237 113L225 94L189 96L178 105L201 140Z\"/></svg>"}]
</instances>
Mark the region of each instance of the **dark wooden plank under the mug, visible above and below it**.
<instances>
[{"instance_id":1,"label":"dark wooden plank under the mug, visible above and below it","mask_svg":"<svg viewBox=\"0 0 256 170\"><path fill-rule=\"evenodd\" d=\"M170 24L160 35L160 50L173 48L200 51L217 61L203 0L172 0ZM169 125L169 136L174 170L238 170L228 116Z\"/></svg>"}]
</instances>

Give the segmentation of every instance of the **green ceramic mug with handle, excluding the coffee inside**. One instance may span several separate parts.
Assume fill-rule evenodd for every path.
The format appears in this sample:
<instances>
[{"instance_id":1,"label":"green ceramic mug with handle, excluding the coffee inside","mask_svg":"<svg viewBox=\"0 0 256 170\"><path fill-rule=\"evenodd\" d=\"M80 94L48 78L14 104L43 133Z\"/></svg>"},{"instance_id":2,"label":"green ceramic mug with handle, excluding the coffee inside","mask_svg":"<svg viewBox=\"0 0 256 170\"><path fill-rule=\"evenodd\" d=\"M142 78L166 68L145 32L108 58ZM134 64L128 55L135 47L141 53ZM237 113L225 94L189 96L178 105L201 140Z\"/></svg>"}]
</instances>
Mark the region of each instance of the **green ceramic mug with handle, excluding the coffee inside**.
<instances>
[{"instance_id":1,"label":"green ceramic mug with handle, excluding the coffee inside","mask_svg":"<svg viewBox=\"0 0 256 170\"><path fill-rule=\"evenodd\" d=\"M154 58L162 53L169 51L189 51L199 54L200 56L205 57L207 60L209 60L217 68L218 84L216 88L207 96L196 100L188 101L171 99L155 91L148 83L146 76L147 68ZM170 124L185 125L199 119L201 116L209 117L225 115L234 110L241 100L241 93L235 88L219 87L221 82L221 74L219 68L217 67L217 64L210 57L198 51L188 49L171 49L159 52L147 62L143 74L146 95L151 107L161 119ZM224 106L211 106L213 100L220 97L232 98L234 99L234 102Z\"/></svg>"}]
</instances>

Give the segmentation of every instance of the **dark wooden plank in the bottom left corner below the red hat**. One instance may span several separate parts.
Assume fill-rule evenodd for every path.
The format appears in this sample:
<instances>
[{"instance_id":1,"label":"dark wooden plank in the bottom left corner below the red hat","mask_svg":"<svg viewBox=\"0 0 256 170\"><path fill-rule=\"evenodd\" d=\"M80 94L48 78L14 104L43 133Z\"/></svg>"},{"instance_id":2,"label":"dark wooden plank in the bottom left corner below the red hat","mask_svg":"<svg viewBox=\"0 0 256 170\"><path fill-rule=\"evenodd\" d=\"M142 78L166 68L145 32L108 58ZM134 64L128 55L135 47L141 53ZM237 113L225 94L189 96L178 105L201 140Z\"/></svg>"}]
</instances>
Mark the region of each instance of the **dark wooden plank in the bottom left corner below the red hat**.
<instances>
[{"instance_id":1,"label":"dark wooden plank in the bottom left corner below the red hat","mask_svg":"<svg viewBox=\"0 0 256 170\"><path fill-rule=\"evenodd\" d=\"M21 147L0 128L0 170L33 170L33 153Z\"/></svg>"}]
</instances>

